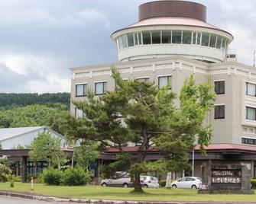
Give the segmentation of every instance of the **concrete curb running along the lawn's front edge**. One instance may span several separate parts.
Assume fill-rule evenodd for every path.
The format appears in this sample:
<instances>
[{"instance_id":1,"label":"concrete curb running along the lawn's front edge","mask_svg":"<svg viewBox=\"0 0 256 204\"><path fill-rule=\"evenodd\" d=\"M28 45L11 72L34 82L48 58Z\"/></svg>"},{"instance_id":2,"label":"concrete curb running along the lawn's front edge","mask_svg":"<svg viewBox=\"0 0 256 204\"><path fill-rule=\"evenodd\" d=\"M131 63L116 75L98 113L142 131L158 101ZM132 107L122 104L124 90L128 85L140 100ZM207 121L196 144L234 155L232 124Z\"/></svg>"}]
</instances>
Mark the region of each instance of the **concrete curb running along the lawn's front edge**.
<instances>
[{"instance_id":1,"label":"concrete curb running along the lawn's front edge","mask_svg":"<svg viewBox=\"0 0 256 204\"><path fill-rule=\"evenodd\" d=\"M76 199L60 198L53 196L40 196L32 193L15 193L11 191L0 190L0 196L12 196L23 199L37 199L47 202L71 202L88 204L256 204L256 202L172 202L172 201L144 201L144 200L108 200L108 199Z\"/></svg>"}]
</instances>

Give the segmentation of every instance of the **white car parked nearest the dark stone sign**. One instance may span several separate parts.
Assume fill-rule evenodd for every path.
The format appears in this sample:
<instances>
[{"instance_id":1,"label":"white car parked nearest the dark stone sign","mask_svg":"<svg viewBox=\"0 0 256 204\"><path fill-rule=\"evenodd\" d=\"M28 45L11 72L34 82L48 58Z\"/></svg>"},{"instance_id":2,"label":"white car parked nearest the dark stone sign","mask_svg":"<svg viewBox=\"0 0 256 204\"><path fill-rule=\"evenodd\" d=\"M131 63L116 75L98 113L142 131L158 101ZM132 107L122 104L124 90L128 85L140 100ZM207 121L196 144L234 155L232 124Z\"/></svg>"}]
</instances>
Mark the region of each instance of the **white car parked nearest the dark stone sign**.
<instances>
[{"instance_id":1,"label":"white car parked nearest the dark stone sign","mask_svg":"<svg viewBox=\"0 0 256 204\"><path fill-rule=\"evenodd\" d=\"M202 179L199 177L182 177L170 184L173 188L198 189L202 185Z\"/></svg>"}]
</instances>

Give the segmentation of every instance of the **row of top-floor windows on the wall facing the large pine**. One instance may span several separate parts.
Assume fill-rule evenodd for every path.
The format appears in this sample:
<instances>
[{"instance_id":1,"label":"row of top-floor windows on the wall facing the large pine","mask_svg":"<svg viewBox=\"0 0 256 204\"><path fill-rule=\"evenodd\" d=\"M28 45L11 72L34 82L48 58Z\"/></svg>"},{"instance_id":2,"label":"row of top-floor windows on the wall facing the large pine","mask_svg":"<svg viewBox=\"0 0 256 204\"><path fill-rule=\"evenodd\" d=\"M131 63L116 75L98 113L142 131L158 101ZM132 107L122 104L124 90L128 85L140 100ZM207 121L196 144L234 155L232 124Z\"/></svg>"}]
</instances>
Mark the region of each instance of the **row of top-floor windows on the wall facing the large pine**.
<instances>
[{"instance_id":1,"label":"row of top-floor windows on the wall facing the large pine","mask_svg":"<svg viewBox=\"0 0 256 204\"><path fill-rule=\"evenodd\" d=\"M149 81L149 78L137 78L138 81ZM160 76L158 77L158 88L163 88L164 86L169 86L171 89L171 75L168 76ZM86 96L87 84L76 84L76 97L84 97ZM101 95L105 94L107 91L107 82L96 82L95 83L95 94Z\"/></svg>"}]
</instances>

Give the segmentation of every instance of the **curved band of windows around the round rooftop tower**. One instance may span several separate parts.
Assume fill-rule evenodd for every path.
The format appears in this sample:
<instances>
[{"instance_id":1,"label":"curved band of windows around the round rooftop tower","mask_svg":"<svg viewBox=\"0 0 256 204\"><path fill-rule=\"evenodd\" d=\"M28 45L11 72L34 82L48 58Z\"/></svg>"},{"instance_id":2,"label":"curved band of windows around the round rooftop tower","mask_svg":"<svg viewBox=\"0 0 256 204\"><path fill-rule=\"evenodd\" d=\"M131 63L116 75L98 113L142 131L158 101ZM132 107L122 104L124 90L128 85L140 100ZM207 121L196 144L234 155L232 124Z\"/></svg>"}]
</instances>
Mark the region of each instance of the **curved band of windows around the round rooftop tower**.
<instances>
[{"instance_id":1,"label":"curved band of windows around the round rooftop tower","mask_svg":"<svg viewBox=\"0 0 256 204\"><path fill-rule=\"evenodd\" d=\"M149 44L194 44L225 50L228 40L216 34L190 30L149 30L124 34L118 37L117 44L118 50Z\"/></svg>"}]
</instances>

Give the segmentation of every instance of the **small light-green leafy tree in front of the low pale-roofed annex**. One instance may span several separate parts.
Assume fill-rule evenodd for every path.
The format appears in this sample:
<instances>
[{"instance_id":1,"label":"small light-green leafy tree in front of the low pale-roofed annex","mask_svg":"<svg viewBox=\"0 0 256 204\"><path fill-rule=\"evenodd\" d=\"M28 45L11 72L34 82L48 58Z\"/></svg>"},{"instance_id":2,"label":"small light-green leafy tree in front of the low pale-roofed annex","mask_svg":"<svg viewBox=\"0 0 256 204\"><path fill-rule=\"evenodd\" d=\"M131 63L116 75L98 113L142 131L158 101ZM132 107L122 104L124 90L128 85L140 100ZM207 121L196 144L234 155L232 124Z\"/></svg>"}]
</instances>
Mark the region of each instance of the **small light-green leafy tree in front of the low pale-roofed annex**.
<instances>
[{"instance_id":1,"label":"small light-green leafy tree in front of the low pale-roofed annex","mask_svg":"<svg viewBox=\"0 0 256 204\"><path fill-rule=\"evenodd\" d=\"M66 155L60 147L60 139L53 138L50 134L41 132L31 142L29 152L31 161L47 159L49 167L57 165L59 168L65 163Z\"/></svg>"}]
</instances>

